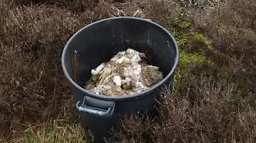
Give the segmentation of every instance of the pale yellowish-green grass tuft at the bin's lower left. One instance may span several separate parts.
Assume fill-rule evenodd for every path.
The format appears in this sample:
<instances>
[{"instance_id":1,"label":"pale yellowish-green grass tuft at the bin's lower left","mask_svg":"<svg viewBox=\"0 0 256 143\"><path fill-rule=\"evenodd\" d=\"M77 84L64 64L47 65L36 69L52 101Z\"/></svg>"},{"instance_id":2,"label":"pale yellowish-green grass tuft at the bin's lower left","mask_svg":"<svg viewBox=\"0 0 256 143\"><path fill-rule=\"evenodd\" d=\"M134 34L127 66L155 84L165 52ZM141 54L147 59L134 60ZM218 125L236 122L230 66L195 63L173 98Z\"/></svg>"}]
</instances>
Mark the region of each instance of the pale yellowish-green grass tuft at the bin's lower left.
<instances>
[{"instance_id":1,"label":"pale yellowish-green grass tuft at the bin's lower left","mask_svg":"<svg viewBox=\"0 0 256 143\"><path fill-rule=\"evenodd\" d=\"M13 143L30 142L84 142L86 137L80 124L72 125L66 120L52 120L43 124L28 124L23 136L15 138Z\"/></svg>"}]
</instances>

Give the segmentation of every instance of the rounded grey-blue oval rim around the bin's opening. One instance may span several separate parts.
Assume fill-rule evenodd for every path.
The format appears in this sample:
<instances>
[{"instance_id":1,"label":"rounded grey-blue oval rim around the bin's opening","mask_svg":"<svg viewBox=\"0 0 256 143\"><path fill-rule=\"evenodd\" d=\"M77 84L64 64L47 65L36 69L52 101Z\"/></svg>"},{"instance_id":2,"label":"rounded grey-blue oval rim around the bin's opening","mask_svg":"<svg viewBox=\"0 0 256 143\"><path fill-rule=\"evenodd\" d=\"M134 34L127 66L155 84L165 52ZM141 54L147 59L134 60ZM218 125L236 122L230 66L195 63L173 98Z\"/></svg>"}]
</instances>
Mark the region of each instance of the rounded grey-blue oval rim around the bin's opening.
<instances>
[{"instance_id":1,"label":"rounded grey-blue oval rim around the bin's opening","mask_svg":"<svg viewBox=\"0 0 256 143\"><path fill-rule=\"evenodd\" d=\"M82 88L80 85L78 85L72 79L72 77L70 77L68 75L68 71L67 71L67 68L65 66L64 58L65 58L65 55L67 53L68 45L73 40L73 38L75 38L81 31L84 31L86 28L88 28L88 27L90 27L90 26L92 26L94 24L101 23L102 21L114 20L114 19L134 19L134 20L145 21L147 23L155 25L156 27L159 27L160 29L162 29L164 32L166 32L170 36L171 40L174 42L175 50L176 50L175 62L174 62L174 66L172 66L172 68L171 68L171 71L158 84L155 84L155 85L151 86L150 88L148 88L146 90L143 90L142 92L139 92L139 93L136 93L136 94L128 94L128 95L125 95L125 96L103 96L103 95L98 95L96 93L90 92L89 90L86 90L86 89ZM69 82L73 86L75 86L75 88L77 88L77 89L81 90L82 92L84 92L85 95L87 94L90 97L93 97L93 98L96 98L96 99L102 99L104 101L122 101L124 99L133 99L133 98L142 98L142 97L144 97L145 95L147 95L146 93L152 92L152 90L156 90L158 88L158 86L164 84L164 82L166 80L168 80L170 78L170 76L172 76L174 74L174 72L175 72L175 70L177 68L178 62L179 62L179 48L177 46L177 42L176 42L174 36L172 36L172 34L169 31L167 31L167 29L163 28L161 25L159 25L159 24L157 24L157 23L155 23L155 22L153 22L151 20L143 19L143 18L130 17L130 16L121 16L121 17L115 17L115 18L101 19L101 20L98 20L98 21L94 21L93 23L90 23L90 24L86 25L85 27L82 27L79 31L77 31L75 34L73 34L73 36L71 38L69 38L67 44L65 44L65 46L64 46L63 53L61 55L61 66L62 66L64 74L68 78Z\"/></svg>"}]
</instances>

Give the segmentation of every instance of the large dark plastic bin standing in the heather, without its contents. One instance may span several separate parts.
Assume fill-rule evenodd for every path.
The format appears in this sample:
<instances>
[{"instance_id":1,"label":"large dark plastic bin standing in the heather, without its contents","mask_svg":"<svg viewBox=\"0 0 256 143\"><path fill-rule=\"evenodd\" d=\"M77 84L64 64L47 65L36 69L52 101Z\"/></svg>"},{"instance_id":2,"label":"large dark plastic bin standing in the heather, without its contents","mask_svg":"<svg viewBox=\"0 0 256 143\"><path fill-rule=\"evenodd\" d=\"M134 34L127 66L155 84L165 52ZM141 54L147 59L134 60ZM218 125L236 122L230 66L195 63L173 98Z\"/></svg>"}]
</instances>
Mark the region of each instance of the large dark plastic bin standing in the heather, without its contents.
<instances>
[{"instance_id":1,"label":"large dark plastic bin standing in the heather, without its contents","mask_svg":"<svg viewBox=\"0 0 256 143\"><path fill-rule=\"evenodd\" d=\"M147 51L164 79L141 93L108 97L85 90L90 70L108 62L119 51L132 48ZM160 89L171 84L179 59L174 37L160 25L141 18L118 17L96 21L80 29L67 42L61 58L71 83L81 123L94 133L94 142L102 142L120 115L154 111Z\"/></svg>"}]
</instances>

